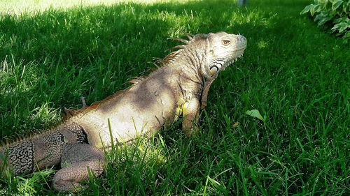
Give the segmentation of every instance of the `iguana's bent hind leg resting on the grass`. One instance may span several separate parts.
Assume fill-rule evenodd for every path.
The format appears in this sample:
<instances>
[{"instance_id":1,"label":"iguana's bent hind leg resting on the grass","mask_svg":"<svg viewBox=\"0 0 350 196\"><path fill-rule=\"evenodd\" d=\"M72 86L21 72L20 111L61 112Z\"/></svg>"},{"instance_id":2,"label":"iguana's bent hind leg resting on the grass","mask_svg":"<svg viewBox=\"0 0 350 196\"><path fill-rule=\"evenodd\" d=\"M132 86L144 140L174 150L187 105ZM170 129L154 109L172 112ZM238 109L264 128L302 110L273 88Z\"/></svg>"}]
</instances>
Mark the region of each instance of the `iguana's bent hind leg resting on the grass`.
<instances>
[{"instance_id":1,"label":"iguana's bent hind leg resting on the grass","mask_svg":"<svg viewBox=\"0 0 350 196\"><path fill-rule=\"evenodd\" d=\"M83 188L93 173L103 172L104 153L90 144L68 144L62 155L61 167L53 177L53 187L59 191L74 191Z\"/></svg>"}]
</instances>

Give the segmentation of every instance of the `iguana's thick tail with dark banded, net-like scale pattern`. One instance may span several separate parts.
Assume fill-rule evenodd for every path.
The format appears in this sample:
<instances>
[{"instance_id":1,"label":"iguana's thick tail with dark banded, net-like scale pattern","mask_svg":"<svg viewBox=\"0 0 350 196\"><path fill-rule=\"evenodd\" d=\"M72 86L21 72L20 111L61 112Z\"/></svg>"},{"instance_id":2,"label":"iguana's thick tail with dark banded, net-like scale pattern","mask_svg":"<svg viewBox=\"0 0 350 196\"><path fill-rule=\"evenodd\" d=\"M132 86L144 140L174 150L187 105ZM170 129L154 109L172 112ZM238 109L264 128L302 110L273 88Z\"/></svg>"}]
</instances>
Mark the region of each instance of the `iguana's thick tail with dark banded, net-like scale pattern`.
<instances>
[{"instance_id":1,"label":"iguana's thick tail with dark banded, net-like scale pattern","mask_svg":"<svg viewBox=\"0 0 350 196\"><path fill-rule=\"evenodd\" d=\"M86 142L83 128L73 122L63 123L45 133L0 146L0 167L7 165L16 175L52 167L60 163L67 144Z\"/></svg>"}]
</instances>

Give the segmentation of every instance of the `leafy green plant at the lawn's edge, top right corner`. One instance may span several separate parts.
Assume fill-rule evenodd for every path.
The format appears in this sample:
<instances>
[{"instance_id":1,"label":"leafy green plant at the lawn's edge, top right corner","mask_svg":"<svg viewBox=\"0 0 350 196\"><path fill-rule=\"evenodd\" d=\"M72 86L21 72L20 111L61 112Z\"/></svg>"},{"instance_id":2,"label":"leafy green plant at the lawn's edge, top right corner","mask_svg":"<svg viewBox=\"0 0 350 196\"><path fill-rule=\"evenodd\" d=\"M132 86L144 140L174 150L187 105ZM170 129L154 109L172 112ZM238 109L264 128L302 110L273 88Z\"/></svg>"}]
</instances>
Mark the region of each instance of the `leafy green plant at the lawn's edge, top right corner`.
<instances>
[{"instance_id":1,"label":"leafy green plant at the lawn's edge, top right corner","mask_svg":"<svg viewBox=\"0 0 350 196\"><path fill-rule=\"evenodd\" d=\"M349 0L314 0L300 14L310 13L318 26L330 26L337 36L350 38L350 1Z\"/></svg>"}]
</instances>

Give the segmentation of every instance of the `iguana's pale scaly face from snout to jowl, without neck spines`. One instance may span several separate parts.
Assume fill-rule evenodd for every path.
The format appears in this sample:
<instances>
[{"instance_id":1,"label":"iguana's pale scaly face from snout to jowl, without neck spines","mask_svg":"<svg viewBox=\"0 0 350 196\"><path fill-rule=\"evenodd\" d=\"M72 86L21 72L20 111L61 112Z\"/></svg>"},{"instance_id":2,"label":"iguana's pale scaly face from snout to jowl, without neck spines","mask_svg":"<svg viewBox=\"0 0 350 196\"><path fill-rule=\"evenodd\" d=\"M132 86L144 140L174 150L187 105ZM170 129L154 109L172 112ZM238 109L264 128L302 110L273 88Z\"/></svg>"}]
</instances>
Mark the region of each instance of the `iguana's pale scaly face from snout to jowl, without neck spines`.
<instances>
[{"instance_id":1,"label":"iguana's pale scaly face from snout to jowl, without neck spines","mask_svg":"<svg viewBox=\"0 0 350 196\"><path fill-rule=\"evenodd\" d=\"M207 66L204 76L217 75L221 70L243 56L246 49L246 38L241 35L228 34L225 32L209 33L207 37Z\"/></svg>"}]
</instances>

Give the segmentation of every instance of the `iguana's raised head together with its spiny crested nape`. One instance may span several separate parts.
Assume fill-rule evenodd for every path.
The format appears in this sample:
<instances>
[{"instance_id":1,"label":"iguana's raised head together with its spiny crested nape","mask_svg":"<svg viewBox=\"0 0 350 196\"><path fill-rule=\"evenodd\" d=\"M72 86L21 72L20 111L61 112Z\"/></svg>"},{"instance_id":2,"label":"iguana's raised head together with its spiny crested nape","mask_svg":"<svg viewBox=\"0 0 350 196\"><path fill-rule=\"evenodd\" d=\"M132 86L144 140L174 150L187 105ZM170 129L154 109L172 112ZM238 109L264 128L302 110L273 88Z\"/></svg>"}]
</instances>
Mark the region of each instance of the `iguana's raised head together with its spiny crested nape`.
<instances>
[{"instance_id":1,"label":"iguana's raised head together with its spiny crested nape","mask_svg":"<svg viewBox=\"0 0 350 196\"><path fill-rule=\"evenodd\" d=\"M195 36L187 33L186 36L189 40L172 38L185 44L173 47L179 50L165 56L160 63L179 63L176 60L182 59L185 61L182 64L195 66L200 75L207 79L216 77L221 70L225 70L227 66L241 57L246 49L246 38L241 35L218 32Z\"/></svg>"}]
</instances>

